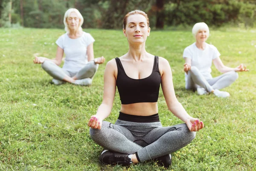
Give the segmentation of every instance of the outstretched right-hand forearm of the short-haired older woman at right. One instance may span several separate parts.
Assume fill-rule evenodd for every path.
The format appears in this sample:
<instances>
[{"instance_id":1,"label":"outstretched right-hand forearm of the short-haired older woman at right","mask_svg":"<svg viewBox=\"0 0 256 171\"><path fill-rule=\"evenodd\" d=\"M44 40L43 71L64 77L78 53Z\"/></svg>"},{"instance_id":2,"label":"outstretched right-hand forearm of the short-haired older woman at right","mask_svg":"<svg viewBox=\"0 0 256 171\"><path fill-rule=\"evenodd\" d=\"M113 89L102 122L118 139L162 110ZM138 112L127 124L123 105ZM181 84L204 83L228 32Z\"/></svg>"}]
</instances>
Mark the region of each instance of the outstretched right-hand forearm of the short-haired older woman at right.
<instances>
[{"instance_id":1,"label":"outstretched right-hand forearm of the short-haired older woman at right","mask_svg":"<svg viewBox=\"0 0 256 171\"><path fill-rule=\"evenodd\" d=\"M229 72L229 71L248 71L248 69L246 69L246 66L244 67L243 64L240 64L238 67L236 68L230 68L230 67L226 67L222 61L221 58L215 58L212 60L213 64L215 65L215 67L217 68L217 70L221 73L225 73L225 72Z\"/></svg>"}]
</instances>

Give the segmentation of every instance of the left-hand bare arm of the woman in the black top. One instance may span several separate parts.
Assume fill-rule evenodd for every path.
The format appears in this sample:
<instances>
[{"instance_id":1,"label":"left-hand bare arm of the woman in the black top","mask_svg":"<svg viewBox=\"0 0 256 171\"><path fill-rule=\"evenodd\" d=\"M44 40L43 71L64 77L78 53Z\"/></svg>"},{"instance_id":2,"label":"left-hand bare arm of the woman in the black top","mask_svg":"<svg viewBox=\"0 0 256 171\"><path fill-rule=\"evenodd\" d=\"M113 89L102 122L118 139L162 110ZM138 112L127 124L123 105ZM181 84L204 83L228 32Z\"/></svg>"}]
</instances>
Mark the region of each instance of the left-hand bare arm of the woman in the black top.
<instances>
[{"instance_id":1,"label":"left-hand bare arm of the woman in the black top","mask_svg":"<svg viewBox=\"0 0 256 171\"><path fill-rule=\"evenodd\" d=\"M96 115L91 116L88 122L90 128L101 129L102 121L111 113L116 93L115 70L117 70L116 61L112 59L107 63L105 68L103 101Z\"/></svg>"}]
</instances>

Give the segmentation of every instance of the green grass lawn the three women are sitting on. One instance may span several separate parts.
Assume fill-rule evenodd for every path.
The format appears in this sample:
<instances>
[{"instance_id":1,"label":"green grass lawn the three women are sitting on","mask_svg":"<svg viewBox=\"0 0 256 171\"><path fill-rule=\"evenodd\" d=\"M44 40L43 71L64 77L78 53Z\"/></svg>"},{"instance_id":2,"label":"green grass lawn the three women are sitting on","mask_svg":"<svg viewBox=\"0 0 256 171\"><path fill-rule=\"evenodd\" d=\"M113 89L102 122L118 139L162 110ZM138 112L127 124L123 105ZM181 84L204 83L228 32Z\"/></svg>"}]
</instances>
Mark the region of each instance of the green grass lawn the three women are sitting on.
<instances>
[{"instance_id":1,"label":"green grass lawn the three women are sitting on","mask_svg":"<svg viewBox=\"0 0 256 171\"><path fill-rule=\"evenodd\" d=\"M106 61L128 51L121 30L87 29L94 38L96 57ZM0 170L3 171L160 171L154 162L131 167L102 166L103 150L90 139L87 121L102 102L105 64L93 86L55 86L33 54L54 58L61 29L0 28ZM212 31L214 44L225 65L247 65L249 72L225 91L230 98L198 96L184 89L183 49L194 42L191 32L153 31L146 43L149 53L166 58L173 73L177 99L205 128L185 148L172 154L173 171L256 171L256 35L255 31ZM239 54L239 52L241 52ZM220 73L212 67L212 75ZM163 126L182 123L158 100ZM106 119L115 122L119 95Z\"/></svg>"}]
</instances>

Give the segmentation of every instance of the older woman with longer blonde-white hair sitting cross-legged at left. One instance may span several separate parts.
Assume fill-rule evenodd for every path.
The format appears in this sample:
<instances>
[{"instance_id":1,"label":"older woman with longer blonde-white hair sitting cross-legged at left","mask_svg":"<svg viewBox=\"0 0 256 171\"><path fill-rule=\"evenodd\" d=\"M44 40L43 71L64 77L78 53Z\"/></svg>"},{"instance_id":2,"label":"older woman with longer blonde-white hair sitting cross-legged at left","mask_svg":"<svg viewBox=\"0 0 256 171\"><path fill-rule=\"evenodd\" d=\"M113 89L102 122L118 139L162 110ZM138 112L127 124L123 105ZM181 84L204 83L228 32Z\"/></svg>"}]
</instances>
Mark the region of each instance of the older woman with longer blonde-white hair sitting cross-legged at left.
<instances>
[{"instance_id":1,"label":"older woman with longer blonde-white hair sitting cross-legged at left","mask_svg":"<svg viewBox=\"0 0 256 171\"><path fill-rule=\"evenodd\" d=\"M81 25L84 19L77 9L68 9L64 15L66 33L56 41L57 54L55 59L35 57L35 64L42 64L42 68L53 77L54 84L69 82L78 85L89 86L92 84L99 64L104 63L105 58L95 58L93 55L93 37L83 32ZM64 66L61 64L63 54L66 58Z\"/></svg>"}]
</instances>

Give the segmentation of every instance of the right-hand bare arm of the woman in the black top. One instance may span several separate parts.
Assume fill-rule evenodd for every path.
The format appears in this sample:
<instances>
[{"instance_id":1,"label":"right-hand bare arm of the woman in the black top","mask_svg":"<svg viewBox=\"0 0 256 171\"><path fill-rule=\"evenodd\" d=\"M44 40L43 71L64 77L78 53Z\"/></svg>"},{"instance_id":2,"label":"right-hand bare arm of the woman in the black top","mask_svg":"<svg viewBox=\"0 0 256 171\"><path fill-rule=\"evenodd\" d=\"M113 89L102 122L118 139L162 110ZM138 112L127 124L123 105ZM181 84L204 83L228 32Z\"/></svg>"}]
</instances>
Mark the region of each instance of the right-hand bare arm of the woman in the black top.
<instances>
[{"instance_id":1,"label":"right-hand bare arm of the woman in the black top","mask_svg":"<svg viewBox=\"0 0 256 171\"><path fill-rule=\"evenodd\" d=\"M199 119L192 118L180 104L175 96L175 91L172 82L172 70L169 65L169 62L164 58L159 58L160 72L161 76L161 85L163 90L163 95L166 100L166 104L169 110L177 116L180 120L186 123L189 130L198 131L204 128L204 123L199 122Z\"/></svg>"}]
</instances>

